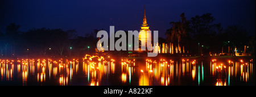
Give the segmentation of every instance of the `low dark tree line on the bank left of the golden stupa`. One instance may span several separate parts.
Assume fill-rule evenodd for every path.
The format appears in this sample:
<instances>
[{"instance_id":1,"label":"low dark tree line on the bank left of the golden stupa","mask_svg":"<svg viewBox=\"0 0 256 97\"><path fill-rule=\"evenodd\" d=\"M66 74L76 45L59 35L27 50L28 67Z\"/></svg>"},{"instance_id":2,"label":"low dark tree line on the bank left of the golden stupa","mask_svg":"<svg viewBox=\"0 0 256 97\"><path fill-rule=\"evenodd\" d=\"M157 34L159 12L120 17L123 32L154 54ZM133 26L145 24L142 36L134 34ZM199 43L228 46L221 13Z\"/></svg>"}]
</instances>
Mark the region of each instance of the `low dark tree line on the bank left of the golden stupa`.
<instances>
[{"instance_id":1,"label":"low dark tree line on the bank left of the golden stupa","mask_svg":"<svg viewBox=\"0 0 256 97\"><path fill-rule=\"evenodd\" d=\"M94 51L97 42L93 33L77 36L75 29L32 28L19 32L19 25L10 23L0 33L1 57L81 57ZM88 48L89 47L89 48Z\"/></svg>"}]
</instances>

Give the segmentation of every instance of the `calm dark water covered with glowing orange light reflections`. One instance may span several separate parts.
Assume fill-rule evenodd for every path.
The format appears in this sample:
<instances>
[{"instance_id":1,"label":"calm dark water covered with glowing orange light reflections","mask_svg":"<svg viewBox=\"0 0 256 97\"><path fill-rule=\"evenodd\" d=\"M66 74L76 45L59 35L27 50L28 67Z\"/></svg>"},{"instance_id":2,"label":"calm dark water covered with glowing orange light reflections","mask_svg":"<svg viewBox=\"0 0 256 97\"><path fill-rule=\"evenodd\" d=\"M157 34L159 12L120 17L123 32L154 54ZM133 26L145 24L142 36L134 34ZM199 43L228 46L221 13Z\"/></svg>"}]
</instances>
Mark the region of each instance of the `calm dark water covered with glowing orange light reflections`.
<instances>
[{"instance_id":1,"label":"calm dark water covered with glowing orange light reflections","mask_svg":"<svg viewBox=\"0 0 256 97\"><path fill-rule=\"evenodd\" d=\"M255 62L105 58L0 60L0 85L237 86L255 85Z\"/></svg>"}]
</instances>

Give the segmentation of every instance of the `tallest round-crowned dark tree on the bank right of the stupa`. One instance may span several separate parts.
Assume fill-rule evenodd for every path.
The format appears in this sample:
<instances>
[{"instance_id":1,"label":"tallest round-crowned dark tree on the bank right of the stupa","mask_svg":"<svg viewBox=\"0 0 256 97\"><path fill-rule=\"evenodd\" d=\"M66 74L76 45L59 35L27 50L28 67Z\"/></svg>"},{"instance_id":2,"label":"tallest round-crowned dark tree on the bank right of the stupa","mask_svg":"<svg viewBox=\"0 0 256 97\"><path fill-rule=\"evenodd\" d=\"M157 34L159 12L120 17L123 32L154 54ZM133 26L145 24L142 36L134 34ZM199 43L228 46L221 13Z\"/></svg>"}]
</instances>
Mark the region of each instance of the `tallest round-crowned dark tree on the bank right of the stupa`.
<instances>
[{"instance_id":1,"label":"tallest round-crowned dark tree on the bank right of the stupa","mask_svg":"<svg viewBox=\"0 0 256 97\"><path fill-rule=\"evenodd\" d=\"M207 13L201 16L196 15L189 20L190 28L191 28L191 35L192 38L197 41L200 49L204 45L203 52L209 52L210 50L221 49L221 47L217 47L214 45L218 40L216 40L217 33L221 33L222 27L221 23L213 23L215 18L213 18L212 14ZM197 45L197 44L194 44Z\"/></svg>"}]
</instances>

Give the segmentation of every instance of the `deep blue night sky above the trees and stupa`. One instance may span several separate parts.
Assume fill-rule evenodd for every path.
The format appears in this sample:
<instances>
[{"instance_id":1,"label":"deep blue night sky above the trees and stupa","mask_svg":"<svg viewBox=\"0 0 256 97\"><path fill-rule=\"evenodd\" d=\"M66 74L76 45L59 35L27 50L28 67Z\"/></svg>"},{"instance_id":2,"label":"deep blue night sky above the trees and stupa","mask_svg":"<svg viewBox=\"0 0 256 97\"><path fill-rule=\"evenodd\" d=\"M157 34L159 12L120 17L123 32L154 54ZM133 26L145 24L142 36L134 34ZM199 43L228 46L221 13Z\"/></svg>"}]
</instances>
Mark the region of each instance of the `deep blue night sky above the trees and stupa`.
<instances>
[{"instance_id":1,"label":"deep blue night sky above the trees and stupa","mask_svg":"<svg viewBox=\"0 0 256 97\"><path fill-rule=\"evenodd\" d=\"M0 1L0 31L9 23L19 24L19 31L31 28L76 29L79 36L93 29L109 26L117 30L139 30L146 6L147 23L159 36L170 28L170 22L212 13L222 27L238 24L255 35L255 0L168 0L168 1L85 1L85 0L4 0Z\"/></svg>"}]
</instances>

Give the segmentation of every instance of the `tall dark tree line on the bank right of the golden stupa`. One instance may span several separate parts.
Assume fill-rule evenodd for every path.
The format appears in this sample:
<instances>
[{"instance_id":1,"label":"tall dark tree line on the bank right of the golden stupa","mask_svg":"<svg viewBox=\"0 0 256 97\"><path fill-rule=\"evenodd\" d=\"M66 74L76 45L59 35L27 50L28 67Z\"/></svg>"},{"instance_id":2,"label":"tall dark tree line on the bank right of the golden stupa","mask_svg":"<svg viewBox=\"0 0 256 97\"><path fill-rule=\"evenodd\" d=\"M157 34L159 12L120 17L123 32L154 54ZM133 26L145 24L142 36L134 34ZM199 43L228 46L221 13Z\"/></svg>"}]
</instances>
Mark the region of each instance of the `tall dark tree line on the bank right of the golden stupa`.
<instances>
[{"instance_id":1,"label":"tall dark tree line on the bank right of the golden stupa","mask_svg":"<svg viewBox=\"0 0 256 97\"><path fill-rule=\"evenodd\" d=\"M226 28L216 20L212 14L196 15L186 19L185 14L180 15L178 22L171 22L171 28L167 29L166 43L183 45L192 54L209 55L211 53L250 53L255 54L255 36L249 36L249 32L239 25ZM244 48L246 46L246 52Z\"/></svg>"}]
</instances>

